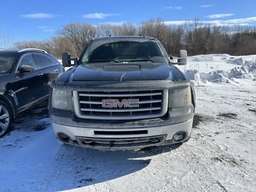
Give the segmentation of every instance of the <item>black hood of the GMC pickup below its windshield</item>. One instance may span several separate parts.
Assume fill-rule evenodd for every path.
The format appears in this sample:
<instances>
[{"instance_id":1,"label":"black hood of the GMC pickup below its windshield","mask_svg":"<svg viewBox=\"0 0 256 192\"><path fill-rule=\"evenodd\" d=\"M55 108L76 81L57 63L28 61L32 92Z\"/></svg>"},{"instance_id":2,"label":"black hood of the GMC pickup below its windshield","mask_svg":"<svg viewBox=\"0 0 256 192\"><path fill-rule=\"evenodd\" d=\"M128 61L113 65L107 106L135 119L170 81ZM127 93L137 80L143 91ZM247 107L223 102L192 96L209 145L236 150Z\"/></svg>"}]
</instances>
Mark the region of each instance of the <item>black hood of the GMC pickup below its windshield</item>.
<instances>
[{"instance_id":1,"label":"black hood of the GMC pickup below its windshield","mask_svg":"<svg viewBox=\"0 0 256 192\"><path fill-rule=\"evenodd\" d=\"M65 73L62 75L62 79L65 76ZM164 63L148 63L148 62L129 63L129 64L125 64L125 63L81 64L73 68L72 75L69 77L70 78L68 78L68 80L66 79L65 82L185 80L181 72L174 66L169 66L168 64L164 64Z\"/></svg>"}]
</instances>

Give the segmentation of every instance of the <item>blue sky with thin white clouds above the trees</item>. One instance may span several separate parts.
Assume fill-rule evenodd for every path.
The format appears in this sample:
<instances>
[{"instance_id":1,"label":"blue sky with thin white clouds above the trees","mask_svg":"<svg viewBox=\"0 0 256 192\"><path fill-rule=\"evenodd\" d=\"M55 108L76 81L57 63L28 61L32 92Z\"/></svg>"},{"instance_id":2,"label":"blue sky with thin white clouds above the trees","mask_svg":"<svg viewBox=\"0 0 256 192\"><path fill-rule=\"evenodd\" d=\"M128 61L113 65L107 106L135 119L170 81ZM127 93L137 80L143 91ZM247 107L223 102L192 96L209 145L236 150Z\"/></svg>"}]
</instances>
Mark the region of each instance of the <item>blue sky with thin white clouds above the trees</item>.
<instances>
[{"instance_id":1,"label":"blue sky with thin white clouds above the trees","mask_svg":"<svg viewBox=\"0 0 256 192\"><path fill-rule=\"evenodd\" d=\"M43 40L69 22L137 24L161 17L167 24L199 17L212 24L256 25L255 0L0 0L0 24L14 41Z\"/></svg>"}]
</instances>

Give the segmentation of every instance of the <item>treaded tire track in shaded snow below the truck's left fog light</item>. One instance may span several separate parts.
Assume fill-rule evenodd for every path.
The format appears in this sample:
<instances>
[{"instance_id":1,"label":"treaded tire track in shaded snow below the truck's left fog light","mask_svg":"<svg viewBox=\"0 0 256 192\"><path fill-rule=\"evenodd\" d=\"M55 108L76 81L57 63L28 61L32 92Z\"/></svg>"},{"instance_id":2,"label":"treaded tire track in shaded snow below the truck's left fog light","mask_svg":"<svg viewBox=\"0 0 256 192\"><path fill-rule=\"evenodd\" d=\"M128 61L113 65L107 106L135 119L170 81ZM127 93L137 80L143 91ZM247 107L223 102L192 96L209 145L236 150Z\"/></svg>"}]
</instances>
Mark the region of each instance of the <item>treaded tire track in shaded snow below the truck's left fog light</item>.
<instances>
[{"instance_id":1,"label":"treaded tire track in shaded snow below the truck's left fog light","mask_svg":"<svg viewBox=\"0 0 256 192\"><path fill-rule=\"evenodd\" d=\"M48 173L46 174L46 178L44 179L44 184L41 188L41 192L52 192L56 191L56 184L58 184L58 180L60 178L60 172L62 166L64 166L65 162L70 157L74 146L61 144L56 155L52 160L52 164L48 169Z\"/></svg>"}]
</instances>

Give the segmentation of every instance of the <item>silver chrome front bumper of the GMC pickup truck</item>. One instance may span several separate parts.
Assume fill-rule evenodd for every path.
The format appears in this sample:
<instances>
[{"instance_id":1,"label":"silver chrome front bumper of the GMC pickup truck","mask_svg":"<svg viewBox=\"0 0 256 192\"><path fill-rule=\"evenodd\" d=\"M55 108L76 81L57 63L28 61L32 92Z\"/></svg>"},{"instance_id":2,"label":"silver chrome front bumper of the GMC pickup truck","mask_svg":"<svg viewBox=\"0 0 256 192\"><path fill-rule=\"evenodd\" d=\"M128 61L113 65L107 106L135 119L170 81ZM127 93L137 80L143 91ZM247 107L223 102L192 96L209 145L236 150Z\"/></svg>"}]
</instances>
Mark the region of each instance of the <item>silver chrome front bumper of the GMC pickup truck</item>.
<instances>
[{"instance_id":1,"label":"silver chrome front bumper of the GMC pickup truck","mask_svg":"<svg viewBox=\"0 0 256 192\"><path fill-rule=\"evenodd\" d=\"M148 126L76 126L52 122L54 133L60 142L100 150L138 149L183 142L190 136L193 118L181 123ZM178 132L184 138L174 140ZM60 133L68 136L63 140Z\"/></svg>"}]
</instances>

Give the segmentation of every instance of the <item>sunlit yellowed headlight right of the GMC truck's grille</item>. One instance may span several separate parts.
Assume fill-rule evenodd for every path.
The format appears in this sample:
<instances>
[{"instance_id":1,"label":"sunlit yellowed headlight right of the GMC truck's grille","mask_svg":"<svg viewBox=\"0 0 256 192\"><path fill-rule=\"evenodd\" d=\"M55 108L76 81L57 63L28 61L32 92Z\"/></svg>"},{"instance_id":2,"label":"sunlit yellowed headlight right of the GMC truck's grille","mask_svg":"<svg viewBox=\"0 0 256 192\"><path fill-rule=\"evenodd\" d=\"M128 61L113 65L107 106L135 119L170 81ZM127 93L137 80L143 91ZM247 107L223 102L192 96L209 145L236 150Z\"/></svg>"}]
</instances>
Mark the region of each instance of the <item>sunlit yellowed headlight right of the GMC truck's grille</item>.
<instances>
[{"instance_id":1,"label":"sunlit yellowed headlight right of the GMC truck's grille","mask_svg":"<svg viewBox=\"0 0 256 192\"><path fill-rule=\"evenodd\" d=\"M168 108L184 107L191 104L190 87L169 89Z\"/></svg>"}]
</instances>

